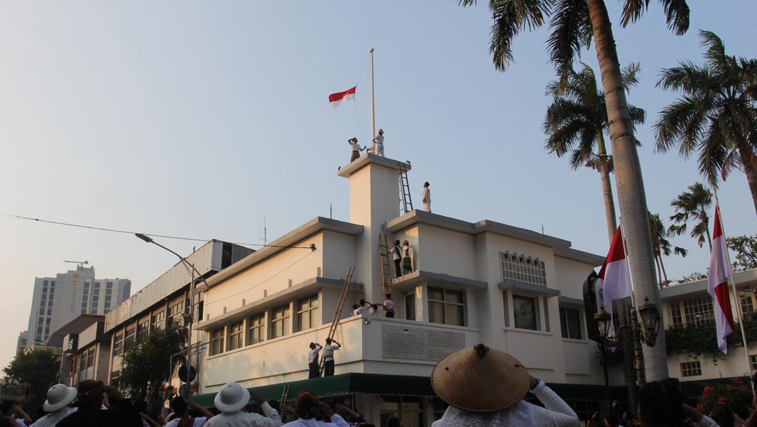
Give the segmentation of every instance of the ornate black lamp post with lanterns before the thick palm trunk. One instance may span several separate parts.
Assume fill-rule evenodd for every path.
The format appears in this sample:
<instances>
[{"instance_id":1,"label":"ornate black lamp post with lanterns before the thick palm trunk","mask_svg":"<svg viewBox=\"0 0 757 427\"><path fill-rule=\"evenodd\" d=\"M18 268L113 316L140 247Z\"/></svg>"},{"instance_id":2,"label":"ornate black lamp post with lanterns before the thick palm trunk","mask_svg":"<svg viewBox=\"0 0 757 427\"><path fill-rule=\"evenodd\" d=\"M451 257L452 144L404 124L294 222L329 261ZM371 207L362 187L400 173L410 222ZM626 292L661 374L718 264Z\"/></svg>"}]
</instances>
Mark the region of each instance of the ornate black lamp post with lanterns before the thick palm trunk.
<instances>
[{"instance_id":1,"label":"ornate black lamp post with lanterns before the thick palm trunk","mask_svg":"<svg viewBox=\"0 0 757 427\"><path fill-rule=\"evenodd\" d=\"M639 322L638 315L641 316L641 322ZM644 298L642 304L639 305L638 310L631 307L628 313L628 317L631 320L631 336L634 340L634 367L636 369L637 383L643 385L646 382L646 376L644 374L644 356L641 343L643 342L649 347L654 347L657 341L657 334L660 326L660 314L655 304L650 303L649 298ZM594 319L597 319L597 329L600 332L600 343L602 345L602 357L605 357L606 346L615 347L622 341L621 332L626 326L621 326L615 332L615 336L610 335L610 325L612 323L612 316L605 310L605 307L600 307L600 310L594 314ZM603 363L605 367L605 387L609 388L607 381L607 364L606 360ZM607 390L609 395L609 390Z\"/></svg>"}]
</instances>

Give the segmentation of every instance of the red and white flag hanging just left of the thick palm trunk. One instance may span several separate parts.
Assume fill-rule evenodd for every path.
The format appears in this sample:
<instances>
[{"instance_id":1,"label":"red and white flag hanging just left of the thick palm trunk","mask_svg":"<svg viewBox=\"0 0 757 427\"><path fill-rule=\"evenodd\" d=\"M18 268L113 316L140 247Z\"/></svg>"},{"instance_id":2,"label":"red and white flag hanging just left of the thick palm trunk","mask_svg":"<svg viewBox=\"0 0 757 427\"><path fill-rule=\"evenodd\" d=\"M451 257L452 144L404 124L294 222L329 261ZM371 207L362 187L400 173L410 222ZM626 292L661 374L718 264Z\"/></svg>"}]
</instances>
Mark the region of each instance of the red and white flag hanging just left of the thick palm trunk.
<instances>
[{"instance_id":1,"label":"red and white flag hanging just left of the thick palm trunk","mask_svg":"<svg viewBox=\"0 0 757 427\"><path fill-rule=\"evenodd\" d=\"M620 227L612 238L610 251L597 276L597 304L604 304L605 311L612 316L612 301L631 296L631 281L628 279L628 263L625 262ZM615 331L615 325L612 325L612 330Z\"/></svg>"}]
</instances>

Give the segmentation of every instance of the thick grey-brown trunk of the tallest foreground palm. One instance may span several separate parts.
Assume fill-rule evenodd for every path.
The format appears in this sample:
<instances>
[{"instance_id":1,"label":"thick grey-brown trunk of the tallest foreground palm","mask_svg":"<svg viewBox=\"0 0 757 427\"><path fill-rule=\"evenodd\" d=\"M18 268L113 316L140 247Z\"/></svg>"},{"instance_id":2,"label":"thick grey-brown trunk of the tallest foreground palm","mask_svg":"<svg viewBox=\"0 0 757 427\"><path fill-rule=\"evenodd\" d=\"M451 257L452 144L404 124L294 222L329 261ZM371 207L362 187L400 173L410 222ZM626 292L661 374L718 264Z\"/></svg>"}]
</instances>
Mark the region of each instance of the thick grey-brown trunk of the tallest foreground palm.
<instances>
[{"instance_id":1,"label":"thick grey-brown trunk of the tallest foreground palm","mask_svg":"<svg viewBox=\"0 0 757 427\"><path fill-rule=\"evenodd\" d=\"M634 126L625 100L612 26L603 0L588 0L587 3L605 92L615 184L634 281L634 298L637 304L644 301L644 298L649 298L650 303L662 310L655 278L649 210L646 207L639 156L634 145ZM659 330L656 345L643 346L643 352L646 381L668 378L665 329Z\"/></svg>"}]
</instances>

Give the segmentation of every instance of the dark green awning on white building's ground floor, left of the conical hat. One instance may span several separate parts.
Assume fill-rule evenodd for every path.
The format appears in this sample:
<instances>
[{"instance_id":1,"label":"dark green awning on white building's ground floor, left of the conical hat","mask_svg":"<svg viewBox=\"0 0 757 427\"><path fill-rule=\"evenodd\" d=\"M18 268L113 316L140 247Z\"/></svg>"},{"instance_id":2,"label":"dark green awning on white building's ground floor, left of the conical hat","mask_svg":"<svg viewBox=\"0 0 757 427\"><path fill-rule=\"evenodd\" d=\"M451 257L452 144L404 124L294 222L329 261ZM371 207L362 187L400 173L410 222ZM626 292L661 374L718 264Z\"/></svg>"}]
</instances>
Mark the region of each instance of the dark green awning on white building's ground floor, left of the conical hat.
<instances>
[{"instance_id":1,"label":"dark green awning on white building's ground floor, left of the conical hat","mask_svg":"<svg viewBox=\"0 0 757 427\"><path fill-rule=\"evenodd\" d=\"M312 391L319 397L338 396L350 393L387 394L396 396L434 396L431 379L427 376L399 376L350 372L300 381L282 382L248 388L264 401L281 399L284 385L289 385L289 398L294 399L301 391ZM213 407L216 393L198 394L192 401L203 407Z\"/></svg>"}]
</instances>

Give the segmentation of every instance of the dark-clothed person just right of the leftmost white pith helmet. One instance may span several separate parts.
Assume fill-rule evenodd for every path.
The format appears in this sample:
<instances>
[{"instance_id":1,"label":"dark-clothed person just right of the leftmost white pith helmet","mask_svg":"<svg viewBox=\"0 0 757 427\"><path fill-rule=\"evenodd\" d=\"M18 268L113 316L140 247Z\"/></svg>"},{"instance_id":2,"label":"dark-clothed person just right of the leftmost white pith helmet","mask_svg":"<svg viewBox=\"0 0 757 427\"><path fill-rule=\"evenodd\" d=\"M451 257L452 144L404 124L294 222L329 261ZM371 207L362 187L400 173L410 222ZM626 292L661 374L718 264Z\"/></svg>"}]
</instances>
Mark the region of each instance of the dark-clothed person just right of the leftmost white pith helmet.
<instances>
[{"instance_id":1,"label":"dark-clothed person just right of the leftmost white pith helmet","mask_svg":"<svg viewBox=\"0 0 757 427\"><path fill-rule=\"evenodd\" d=\"M58 427L106 425L107 427L142 427L142 417L131 399L123 397L117 388L94 379L79 382L76 388L79 409L58 422ZM103 409L103 394L110 407Z\"/></svg>"}]
</instances>

